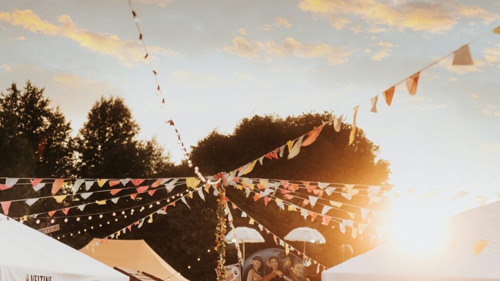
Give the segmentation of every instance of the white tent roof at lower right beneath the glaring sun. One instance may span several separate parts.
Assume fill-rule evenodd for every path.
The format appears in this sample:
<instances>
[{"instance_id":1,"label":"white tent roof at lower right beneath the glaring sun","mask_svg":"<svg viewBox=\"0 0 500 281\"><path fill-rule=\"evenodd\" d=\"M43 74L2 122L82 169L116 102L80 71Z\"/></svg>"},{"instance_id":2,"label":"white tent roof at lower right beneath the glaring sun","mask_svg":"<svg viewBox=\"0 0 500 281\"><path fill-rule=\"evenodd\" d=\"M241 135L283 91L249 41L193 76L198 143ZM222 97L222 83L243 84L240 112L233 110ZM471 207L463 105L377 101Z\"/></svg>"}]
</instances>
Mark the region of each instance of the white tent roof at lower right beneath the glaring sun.
<instances>
[{"instance_id":1,"label":"white tent roof at lower right beneath the glaring sun","mask_svg":"<svg viewBox=\"0 0 500 281\"><path fill-rule=\"evenodd\" d=\"M430 257L387 244L324 271L322 281L500 281L500 202L448 221L449 245ZM478 255L472 243L487 241Z\"/></svg>"}]
</instances>

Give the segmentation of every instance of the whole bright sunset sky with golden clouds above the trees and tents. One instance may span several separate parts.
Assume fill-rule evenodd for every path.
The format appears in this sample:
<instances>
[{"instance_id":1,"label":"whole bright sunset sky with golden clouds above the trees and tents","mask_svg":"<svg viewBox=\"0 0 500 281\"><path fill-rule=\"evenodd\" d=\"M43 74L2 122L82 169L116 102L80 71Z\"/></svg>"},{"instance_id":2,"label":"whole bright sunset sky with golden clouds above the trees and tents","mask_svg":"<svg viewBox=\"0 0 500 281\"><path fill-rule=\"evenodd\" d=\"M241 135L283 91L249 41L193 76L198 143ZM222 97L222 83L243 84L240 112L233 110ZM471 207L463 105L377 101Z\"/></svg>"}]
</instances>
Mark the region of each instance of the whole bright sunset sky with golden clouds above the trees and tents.
<instances>
[{"instance_id":1,"label":"whole bright sunset sky with golden clouds above the trees and tents","mask_svg":"<svg viewBox=\"0 0 500 281\"><path fill-rule=\"evenodd\" d=\"M452 66L448 57L421 72L415 96L400 84L390 107L380 95L378 113L369 112L371 97L498 26L500 3L132 4L166 109L141 62L126 0L2 0L1 91L27 79L45 87L51 104L71 120L73 135L96 99L120 96L140 138L156 136L177 162L182 153L164 123L170 117L189 147L214 129L232 132L253 114L327 110L352 122L351 109L360 105L357 125L390 162L391 184L500 191L500 34L470 45L474 66Z\"/></svg>"}]
</instances>

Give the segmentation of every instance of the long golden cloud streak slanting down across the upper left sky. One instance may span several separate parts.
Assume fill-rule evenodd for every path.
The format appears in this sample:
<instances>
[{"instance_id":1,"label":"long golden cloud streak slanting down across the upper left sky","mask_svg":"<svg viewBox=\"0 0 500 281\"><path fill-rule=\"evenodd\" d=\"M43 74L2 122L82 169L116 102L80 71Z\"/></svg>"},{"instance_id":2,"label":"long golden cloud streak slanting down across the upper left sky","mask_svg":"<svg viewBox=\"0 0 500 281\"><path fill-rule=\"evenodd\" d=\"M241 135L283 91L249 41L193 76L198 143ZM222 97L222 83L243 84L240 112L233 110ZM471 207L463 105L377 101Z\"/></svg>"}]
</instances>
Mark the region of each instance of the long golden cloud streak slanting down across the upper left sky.
<instances>
[{"instance_id":1,"label":"long golden cloud streak slanting down across the upper left sky","mask_svg":"<svg viewBox=\"0 0 500 281\"><path fill-rule=\"evenodd\" d=\"M68 15L58 17L59 25L40 19L32 10L14 10L11 13L1 12L0 20L7 21L11 25L21 26L34 33L39 32L69 38L78 42L80 46L101 55L111 56L129 67L132 67L144 56L143 47L138 45L136 41L123 40L114 34L105 35L78 28ZM148 47L148 51L150 54L178 55L175 51L165 50L157 46Z\"/></svg>"}]
</instances>

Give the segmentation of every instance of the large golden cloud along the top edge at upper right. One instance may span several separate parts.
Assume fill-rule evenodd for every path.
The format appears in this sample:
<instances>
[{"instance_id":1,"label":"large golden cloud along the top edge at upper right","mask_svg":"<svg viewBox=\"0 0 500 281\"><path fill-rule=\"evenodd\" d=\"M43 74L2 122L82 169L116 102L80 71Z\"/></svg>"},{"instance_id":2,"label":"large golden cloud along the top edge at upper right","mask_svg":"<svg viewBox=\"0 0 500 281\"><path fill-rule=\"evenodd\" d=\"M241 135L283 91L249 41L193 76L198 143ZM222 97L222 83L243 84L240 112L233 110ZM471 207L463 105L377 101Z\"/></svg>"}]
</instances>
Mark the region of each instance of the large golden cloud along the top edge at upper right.
<instances>
[{"instance_id":1,"label":"large golden cloud along the top edge at upper right","mask_svg":"<svg viewBox=\"0 0 500 281\"><path fill-rule=\"evenodd\" d=\"M374 0L301 0L299 7L327 18L331 25L343 29L353 20L367 24L366 32L380 32L384 27L423 30L440 33L450 30L461 18L490 23L498 19L479 6L452 2L379 2Z\"/></svg>"}]
</instances>

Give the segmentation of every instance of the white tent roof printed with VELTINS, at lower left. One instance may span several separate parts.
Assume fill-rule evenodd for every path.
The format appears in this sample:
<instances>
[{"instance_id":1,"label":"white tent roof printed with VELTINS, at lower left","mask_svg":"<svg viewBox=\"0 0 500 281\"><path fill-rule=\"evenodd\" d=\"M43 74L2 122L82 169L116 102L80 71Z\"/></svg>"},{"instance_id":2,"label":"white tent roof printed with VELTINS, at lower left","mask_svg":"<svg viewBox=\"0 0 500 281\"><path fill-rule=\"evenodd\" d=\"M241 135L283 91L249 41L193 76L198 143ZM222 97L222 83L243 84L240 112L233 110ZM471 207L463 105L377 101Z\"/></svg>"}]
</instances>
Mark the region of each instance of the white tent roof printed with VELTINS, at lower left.
<instances>
[{"instance_id":1,"label":"white tent roof printed with VELTINS, at lower left","mask_svg":"<svg viewBox=\"0 0 500 281\"><path fill-rule=\"evenodd\" d=\"M59 241L0 215L1 281L128 281Z\"/></svg>"}]
</instances>

